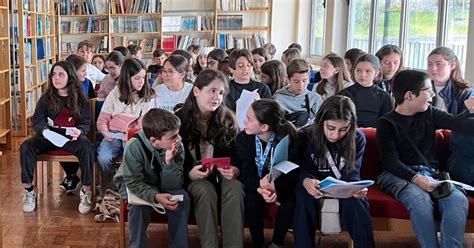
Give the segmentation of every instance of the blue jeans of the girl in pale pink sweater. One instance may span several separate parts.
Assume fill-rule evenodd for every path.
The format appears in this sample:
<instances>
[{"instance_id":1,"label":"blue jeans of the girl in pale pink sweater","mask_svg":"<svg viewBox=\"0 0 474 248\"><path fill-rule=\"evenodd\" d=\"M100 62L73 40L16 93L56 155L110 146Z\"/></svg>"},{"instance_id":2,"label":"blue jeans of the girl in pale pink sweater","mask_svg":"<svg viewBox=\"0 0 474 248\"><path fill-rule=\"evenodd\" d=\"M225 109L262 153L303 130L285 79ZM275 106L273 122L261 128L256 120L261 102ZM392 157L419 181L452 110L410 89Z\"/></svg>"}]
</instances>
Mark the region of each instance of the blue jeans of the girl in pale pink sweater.
<instances>
[{"instance_id":1,"label":"blue jeans of the girl in pale pink sweater","mask_svg":"<svg viewBox=\"0 0 474 248\"><path fill-rule=\"evenodd\" d=\"M112 164L112 159L123 153L125 148L125 141L113 139L108 141L103 139L97 149L97 160L99 161L100 173L103 191L110 188L112 185L112 178L115 174L115 166Z\"/></svg>"}]
</instances>

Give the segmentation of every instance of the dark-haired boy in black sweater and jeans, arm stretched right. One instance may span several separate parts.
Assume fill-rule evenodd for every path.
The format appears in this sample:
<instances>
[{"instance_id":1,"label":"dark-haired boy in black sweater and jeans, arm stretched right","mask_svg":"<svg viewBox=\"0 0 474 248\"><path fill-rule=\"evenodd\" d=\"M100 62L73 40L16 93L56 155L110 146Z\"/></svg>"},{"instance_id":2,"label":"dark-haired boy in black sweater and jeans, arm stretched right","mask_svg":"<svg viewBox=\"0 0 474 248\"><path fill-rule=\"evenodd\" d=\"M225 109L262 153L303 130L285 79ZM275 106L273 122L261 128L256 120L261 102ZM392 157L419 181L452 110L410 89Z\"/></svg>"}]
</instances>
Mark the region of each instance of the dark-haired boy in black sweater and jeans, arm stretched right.
<instances>
[{"instance_id":1,"label":"dark-haired boy in black sweater and jeans, arm stretched right","mask_svg":"<svg viewBox=\"0 0 474 248\"><path fill-rule=\"evenodd\" d=\"M474 135L474 97L464 101L469 115L454 116L434 108L430 102L435 94L428 75L414 70L395 75L392 94L397 107L376 125L380 151L377 183L407 208L421 247L462 247L468 213L466 195L453 185L452 192L446 189L444 196L430 194L437 185L429 177L438 169L436 129ZM441 215L440 240L434 209Z\"/></svg>"}]
</instances>

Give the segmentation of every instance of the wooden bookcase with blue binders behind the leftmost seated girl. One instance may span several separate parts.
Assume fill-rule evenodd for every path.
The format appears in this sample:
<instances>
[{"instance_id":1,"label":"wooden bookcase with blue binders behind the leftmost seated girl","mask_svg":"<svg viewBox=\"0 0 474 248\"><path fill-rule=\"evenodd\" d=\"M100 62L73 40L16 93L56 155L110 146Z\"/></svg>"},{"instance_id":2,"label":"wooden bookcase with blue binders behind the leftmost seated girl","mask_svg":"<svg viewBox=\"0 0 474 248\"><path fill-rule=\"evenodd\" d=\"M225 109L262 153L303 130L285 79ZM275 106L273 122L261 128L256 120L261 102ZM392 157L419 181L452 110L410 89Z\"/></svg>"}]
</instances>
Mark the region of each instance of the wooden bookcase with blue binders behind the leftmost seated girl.
<instances>
[{"instance_id":1,"label":"wooden bookcase with blue binders behind the leftmost seated girl","mask_svg":"<svg viewBox=\"0 0 474 248\"><path fill-rule=\"evenodd\" d=\"M53 0L16 0L11 8L12 131L28 135L28 120L56 61ZM16 38L17 37L17 38Z\"/></svg>"}]
</instances>

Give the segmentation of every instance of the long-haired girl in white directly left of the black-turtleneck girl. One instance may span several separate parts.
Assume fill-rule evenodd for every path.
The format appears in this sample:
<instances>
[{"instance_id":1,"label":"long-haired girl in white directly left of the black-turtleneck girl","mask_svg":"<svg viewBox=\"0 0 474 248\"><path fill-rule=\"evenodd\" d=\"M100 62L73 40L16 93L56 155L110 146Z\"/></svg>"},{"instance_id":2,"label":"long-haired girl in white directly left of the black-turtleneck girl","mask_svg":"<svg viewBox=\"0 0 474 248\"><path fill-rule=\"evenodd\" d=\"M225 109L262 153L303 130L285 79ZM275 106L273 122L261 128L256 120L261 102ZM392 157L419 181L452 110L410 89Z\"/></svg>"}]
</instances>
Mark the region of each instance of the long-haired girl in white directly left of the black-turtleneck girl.
<instances>
[{"instance_id":1,"label":"long-haired girl in white directly left of the black-turtleneck girl","mask_svg":"<svg viewBox=\"0 0 474 248\"><path fill-rule=\"evenodd\" d=\"M321 95L323 100L352 85L344 59L334 53L323 58L319 72L321 81L314 86L313 91Z\"/></svg>"}]
</instances>

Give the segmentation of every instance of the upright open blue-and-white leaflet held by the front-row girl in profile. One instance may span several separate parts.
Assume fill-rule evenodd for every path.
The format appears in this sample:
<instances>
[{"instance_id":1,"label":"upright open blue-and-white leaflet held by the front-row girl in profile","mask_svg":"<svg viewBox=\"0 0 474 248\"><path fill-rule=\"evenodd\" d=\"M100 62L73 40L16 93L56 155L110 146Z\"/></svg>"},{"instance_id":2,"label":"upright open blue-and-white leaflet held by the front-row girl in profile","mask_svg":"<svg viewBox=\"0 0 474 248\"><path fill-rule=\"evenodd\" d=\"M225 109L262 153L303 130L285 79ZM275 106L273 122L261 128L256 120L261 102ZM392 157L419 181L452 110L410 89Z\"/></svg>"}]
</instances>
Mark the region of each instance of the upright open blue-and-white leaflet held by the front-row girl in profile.
<instances>
[{"instance_id":1,"label":"upright open blue-and-white leaflet held by the front-row girl in profile","mask_svg":"<svg viewBox=\"0 0 474 248\"><path fill-rule=\"evenodd\" d=\"M272 150L271 154L271 171L269 180L276 180L282 173L288 174L288 172L298 168L299 166L293 162L288 161L288 146L290 145L290 139L287 136L278 142L275 146L275 150Z\"/></svg>"}]
</instances>

